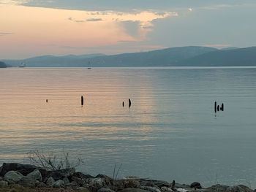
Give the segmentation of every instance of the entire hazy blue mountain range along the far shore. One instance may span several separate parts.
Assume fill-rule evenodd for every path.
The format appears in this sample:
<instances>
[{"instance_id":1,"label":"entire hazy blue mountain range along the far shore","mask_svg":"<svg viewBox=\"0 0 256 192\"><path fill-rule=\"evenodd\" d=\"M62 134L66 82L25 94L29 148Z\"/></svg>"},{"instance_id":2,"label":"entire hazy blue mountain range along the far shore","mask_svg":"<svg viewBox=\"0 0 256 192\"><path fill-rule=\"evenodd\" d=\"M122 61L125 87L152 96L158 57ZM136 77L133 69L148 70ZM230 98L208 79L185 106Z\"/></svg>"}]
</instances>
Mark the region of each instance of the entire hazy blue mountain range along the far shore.
<instances>
[{"instance_id":1,"label":"entire hazy blue mountain range along the far shore","mask_svg":"<svg viewBox=\"0 0 256 192\"><path fill-rule=\"evenodd\" d=\"M22 60L4 60L8 66L98 67L98 66L256 66L256 47L171 47L118 55L42 55Z\"/></svg>"}]
</instances>

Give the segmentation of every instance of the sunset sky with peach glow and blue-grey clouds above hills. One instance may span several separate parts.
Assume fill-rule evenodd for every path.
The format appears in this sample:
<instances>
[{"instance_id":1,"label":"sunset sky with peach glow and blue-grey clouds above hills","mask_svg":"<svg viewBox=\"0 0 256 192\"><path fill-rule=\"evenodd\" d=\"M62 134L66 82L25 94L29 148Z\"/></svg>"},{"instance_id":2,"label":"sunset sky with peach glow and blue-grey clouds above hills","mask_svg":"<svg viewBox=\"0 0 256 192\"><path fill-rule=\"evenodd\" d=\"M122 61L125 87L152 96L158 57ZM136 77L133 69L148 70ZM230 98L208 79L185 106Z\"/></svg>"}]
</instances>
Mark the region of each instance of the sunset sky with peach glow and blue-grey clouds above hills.
<instances>
[{"instance_id":1,"label":"sunset sky with peach glow and blue-grey clouds above hills","mask_svg":"<svg viewBox=\"0 0 256 192\"><path fill-rule=\"evenodd\" d=\"M256 0L0 0L0 59L256 45Z\"/></svg>"}]
</instances>

